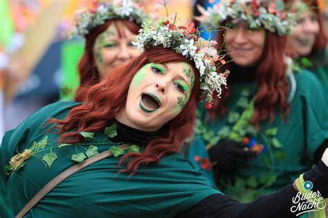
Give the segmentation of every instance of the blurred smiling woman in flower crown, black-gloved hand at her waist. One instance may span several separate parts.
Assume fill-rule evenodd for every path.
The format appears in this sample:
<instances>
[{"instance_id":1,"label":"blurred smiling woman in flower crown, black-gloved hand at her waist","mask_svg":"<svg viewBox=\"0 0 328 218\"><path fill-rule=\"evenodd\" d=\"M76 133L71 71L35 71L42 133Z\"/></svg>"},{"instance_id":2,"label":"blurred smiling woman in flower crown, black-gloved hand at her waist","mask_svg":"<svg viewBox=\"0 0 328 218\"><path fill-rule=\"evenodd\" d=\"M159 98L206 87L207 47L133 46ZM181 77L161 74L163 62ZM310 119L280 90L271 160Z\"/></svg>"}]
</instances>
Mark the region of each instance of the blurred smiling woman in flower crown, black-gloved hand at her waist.
<instances>
[{"instance_id":1,"label":"blurred smiling woman in flower crown, black-gloved hand at her waist","mask_svg":"<svg viewBox=\"0 0 328 218\"><path fill-rule=\"evenodd\" d=\"M328 146L327 98L318 79L293 71L285 55L293 14L278 10L279 2L224 0L200 18L230 28L217 41L229 59L221 69L231 75L196 130L219 189L244 202L289 184L318 164ZM195 155L197 146L190 159L201 164L206 157Z\"/></svg>"}]
</instances>

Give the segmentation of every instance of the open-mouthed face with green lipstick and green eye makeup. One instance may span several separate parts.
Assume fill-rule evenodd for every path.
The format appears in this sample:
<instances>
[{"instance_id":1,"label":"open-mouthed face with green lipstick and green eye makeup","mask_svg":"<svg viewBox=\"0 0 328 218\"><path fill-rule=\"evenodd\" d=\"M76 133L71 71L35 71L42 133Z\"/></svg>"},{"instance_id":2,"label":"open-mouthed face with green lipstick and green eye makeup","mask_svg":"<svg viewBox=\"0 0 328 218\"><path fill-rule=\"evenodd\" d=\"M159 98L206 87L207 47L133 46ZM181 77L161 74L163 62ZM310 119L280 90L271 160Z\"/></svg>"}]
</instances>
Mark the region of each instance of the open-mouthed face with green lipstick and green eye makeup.
<instances>
[{"instance_id":1,"label":"open-mouthed face with green lipstick and green eye makeup","mask_svg":"<svg viewBox=\"0 0 328 218\"><path fill-rule=\"evenodd\" d=\"M148 63L132 79L127 102L116 119L154 132L179 115L193 86L194 72L188 63Z\"/></svg>"}]
</instances>

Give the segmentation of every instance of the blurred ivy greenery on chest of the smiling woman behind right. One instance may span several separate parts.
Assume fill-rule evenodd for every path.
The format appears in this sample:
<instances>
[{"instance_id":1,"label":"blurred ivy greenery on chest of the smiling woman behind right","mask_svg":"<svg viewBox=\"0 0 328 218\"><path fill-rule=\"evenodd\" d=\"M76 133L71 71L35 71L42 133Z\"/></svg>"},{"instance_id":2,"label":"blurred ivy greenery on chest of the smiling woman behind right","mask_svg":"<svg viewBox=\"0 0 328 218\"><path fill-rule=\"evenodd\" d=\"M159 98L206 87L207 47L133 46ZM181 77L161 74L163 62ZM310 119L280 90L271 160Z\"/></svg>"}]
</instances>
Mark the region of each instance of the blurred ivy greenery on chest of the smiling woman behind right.
<instances>
[{"instance_id":1,"label":"blurred ivy greenery on chest of the smiling woman behind right","mask_svg":"<svg viewBox=\"0 0 328 218\"><path fill-rule=\"evenodd\" d=\"M228 115L219 122L213 122L219 125L216 128L211 124L206 125L201 119L197 119L195 132L201 135L203 141L206 142L206 149L215 146L221 140L234 140L249 143L255 141L258 145L264 146L264 151L259 152L257 159L263 161L263 165L268 168L267 173L262 173L259 177L242 178L238 176L224 177L219 175L218 186L221 190L233 190L235 193L244 193L245 199L242 201L254 200L262 196L264 188L272 186L276 181L275 164L286 157L282 152L282 143L277 139L277 127L268 126L265 128L261 126L259 129L254 128L250 119L254 115L254 101L255 96L250 96L248 89L240 92L240 97L236 99L232 110L230 109ZM210 128L209 126L214 126ZM250 144L248 149L251 149Z\"/></svg>"}]
</instances>

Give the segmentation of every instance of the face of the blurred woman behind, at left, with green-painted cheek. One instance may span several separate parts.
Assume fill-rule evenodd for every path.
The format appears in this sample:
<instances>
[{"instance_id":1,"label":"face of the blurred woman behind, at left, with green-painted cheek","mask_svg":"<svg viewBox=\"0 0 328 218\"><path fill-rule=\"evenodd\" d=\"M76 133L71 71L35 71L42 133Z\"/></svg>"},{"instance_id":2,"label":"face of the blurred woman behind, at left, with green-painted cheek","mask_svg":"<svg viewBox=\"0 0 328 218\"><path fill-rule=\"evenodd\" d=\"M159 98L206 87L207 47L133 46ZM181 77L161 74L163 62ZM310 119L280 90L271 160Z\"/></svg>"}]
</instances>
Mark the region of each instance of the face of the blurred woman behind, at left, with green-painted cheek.
<instances>
[{"instance_id":1,"label":"face of the blurred woman behind, at left, with green-painted cheek","mask_svg":"<svg viewBox=\"0 0 328 218\"><path fill-rule=\"evenodd\" d=\"M130 32L122 22L116 22L120 27L120 34L115 24L111 23L107 30L98 35L93 46L100 78L104 78L113 66L125 63L140 54L138 48L131 43L136 39L136 34Z\"/></svg>"}]
</instances>

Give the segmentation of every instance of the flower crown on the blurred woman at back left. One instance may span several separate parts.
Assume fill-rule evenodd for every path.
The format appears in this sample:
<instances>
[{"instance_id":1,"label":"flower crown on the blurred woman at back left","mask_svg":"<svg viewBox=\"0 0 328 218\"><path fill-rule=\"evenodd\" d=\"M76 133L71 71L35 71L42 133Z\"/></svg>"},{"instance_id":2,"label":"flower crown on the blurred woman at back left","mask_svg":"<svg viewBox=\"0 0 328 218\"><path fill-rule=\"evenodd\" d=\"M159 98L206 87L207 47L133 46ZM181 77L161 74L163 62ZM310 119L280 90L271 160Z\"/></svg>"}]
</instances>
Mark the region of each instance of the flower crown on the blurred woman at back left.
<instances>
[{"instance_id":1,"label":"flower crown on the blurred woman at back left","mask_svg":"<svg viewBox=\"0 0 328 218\"><path fill-rule=\"evenodd\" d=\"M149 15L140 4L131 0L96 2L91 9L84 8L75 12L70 36L85 37L90 30L111 19L128 19L141 25L149 19Z\"/></svg>"}]
</instances>

